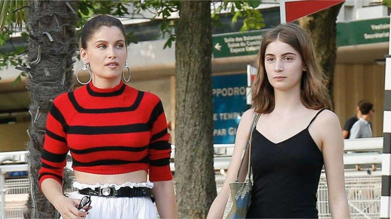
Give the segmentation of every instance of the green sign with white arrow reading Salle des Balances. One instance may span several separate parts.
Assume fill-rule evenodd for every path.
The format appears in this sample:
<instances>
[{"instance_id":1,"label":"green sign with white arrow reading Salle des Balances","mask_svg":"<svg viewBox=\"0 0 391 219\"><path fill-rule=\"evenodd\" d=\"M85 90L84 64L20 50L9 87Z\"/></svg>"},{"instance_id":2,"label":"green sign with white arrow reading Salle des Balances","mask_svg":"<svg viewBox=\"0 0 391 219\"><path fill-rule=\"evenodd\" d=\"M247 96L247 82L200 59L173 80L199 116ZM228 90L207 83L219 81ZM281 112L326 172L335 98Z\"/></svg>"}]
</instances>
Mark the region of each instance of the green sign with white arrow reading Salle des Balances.
<instances>
[{"instance_id":1,"label":"green sign with white arrow reading Salle des Balances","mask_svg":"<svg viewBox=\"0 0 391 219\"><path fill-rule=\"evenodd\" d=\"M212 36L213 57L256 55L260 49L262 34L267 30L215 34Z\"/></svg>"}]
</instances>

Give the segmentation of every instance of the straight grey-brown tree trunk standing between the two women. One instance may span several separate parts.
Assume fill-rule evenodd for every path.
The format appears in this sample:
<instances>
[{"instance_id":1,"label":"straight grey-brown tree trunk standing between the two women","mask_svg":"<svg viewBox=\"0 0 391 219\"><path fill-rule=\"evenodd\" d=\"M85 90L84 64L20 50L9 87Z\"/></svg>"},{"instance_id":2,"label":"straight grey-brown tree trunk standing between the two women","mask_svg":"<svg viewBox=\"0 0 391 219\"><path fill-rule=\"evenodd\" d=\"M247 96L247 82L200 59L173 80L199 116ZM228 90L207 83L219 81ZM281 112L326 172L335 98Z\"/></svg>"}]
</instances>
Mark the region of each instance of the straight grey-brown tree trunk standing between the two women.
<instances>
[{"instance_id":1,"label":"straight grey-brown tree trunk standing between the two women","mask_svg":"<svg viewBox=\"0 0 391 219\"><path fill-rule=\"evenodd\" d=\"M176 60L175 180L179 218L205 218L213 170L210 1L180 2Z\"/></svg>"}]
</instances>

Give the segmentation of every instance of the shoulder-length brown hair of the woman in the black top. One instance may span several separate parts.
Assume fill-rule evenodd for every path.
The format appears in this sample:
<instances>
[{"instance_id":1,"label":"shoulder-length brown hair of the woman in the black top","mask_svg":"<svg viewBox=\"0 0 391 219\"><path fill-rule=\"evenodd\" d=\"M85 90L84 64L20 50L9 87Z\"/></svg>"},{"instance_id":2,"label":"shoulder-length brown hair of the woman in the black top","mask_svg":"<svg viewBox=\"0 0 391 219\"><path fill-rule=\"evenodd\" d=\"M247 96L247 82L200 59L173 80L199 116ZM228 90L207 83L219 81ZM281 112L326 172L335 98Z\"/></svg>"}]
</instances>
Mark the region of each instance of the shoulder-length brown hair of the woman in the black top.
<instances>
[{"instance_id":1,"label":"shoulder-length brown hair of the woman in the black top","mask_svg":"<svg viewBox=\"0 0 391 219\"><path fill-rule=\"evenodd\" d=\"M300 98L309 109L332 109L332 102L325 83L325 74L316 62L314 46L307 32L292 23L281 24L269 30L263 37L255 63L256 77L251 87L253 107L258 113L271 113L274 109L274 88L267 79L265 70L265 50L274 41L281 41L298 51L307 66L303 71L300 85Z\"/></svg>"}]
</instances>

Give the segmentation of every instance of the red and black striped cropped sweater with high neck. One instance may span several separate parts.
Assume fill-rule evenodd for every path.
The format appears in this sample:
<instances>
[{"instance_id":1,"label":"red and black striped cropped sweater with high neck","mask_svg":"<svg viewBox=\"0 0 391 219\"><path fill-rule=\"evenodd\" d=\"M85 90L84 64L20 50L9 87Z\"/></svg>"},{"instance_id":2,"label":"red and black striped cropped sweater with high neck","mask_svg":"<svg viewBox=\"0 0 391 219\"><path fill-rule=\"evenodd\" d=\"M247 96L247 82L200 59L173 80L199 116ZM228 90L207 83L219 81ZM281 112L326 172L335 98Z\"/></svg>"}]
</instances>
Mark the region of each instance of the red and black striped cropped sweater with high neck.
<instances>
[{"instance_id":1,"label":"red and black striped cropped sweater with high neck","mask_svg":"<svg viewBox=\"0 0 391 219\"><path fill-rule=\"evenodd\" d=\"M53 101L39 187L46 178L62 185L68 150L77 171L109 175L145 170L151 182L171 180L169 137L158 96L122 81L113 88L90 82Z\"/></svg>"}]
</instances>

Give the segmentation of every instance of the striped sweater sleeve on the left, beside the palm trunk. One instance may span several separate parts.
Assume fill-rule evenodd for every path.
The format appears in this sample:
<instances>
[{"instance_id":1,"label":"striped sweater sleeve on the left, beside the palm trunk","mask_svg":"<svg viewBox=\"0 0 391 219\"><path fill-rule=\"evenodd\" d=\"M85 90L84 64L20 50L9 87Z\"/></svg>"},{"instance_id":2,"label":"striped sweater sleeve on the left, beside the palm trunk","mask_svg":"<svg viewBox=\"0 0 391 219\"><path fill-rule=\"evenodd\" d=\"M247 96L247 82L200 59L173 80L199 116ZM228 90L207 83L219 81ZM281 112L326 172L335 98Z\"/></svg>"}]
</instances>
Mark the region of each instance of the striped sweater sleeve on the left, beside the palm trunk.
<instances>
[{"instance_id":1,"label":"striped sweater sleeve on the left, beside the palm trunk","mask_svg":"<svg viewBox=\"0 0 391 219\"><path fill-rule=\"evenodd\" d=\"M64 131L65 118L57 108L57 104L57 99L54 99L46 122L43 153L41 155L42 166L38 172L39 189L41 190L41 184L47 178L55 179L59 184L63 184L63 170L66 165L68 147Z\"/></svg>"}]
</instances>

